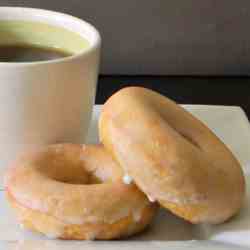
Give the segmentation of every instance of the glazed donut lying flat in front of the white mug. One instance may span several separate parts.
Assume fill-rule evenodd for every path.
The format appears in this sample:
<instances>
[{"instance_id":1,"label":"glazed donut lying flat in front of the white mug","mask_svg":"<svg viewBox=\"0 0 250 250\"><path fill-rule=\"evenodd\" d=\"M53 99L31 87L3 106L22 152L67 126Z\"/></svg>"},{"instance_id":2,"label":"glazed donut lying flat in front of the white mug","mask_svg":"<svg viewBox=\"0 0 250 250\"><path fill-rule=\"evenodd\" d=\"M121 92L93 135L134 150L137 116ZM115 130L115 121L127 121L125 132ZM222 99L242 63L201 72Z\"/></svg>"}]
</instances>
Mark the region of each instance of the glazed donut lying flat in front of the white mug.
<instances>
[{"instance_id":1,"label":"glazed donut lying flat in front of the white mug","mask_svg":"<svg viewBox=\"0 0 250 250\"><path fill-rule=\"evenodd\" d=\"M24 228L50 238L115 239L142 231L156 204L103 146L58 144L26 154L8 170L8 201Z\"/></svg>"}]
</instances>

